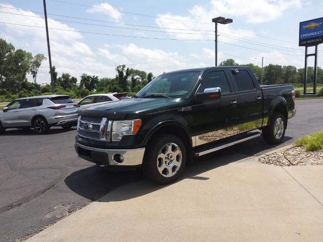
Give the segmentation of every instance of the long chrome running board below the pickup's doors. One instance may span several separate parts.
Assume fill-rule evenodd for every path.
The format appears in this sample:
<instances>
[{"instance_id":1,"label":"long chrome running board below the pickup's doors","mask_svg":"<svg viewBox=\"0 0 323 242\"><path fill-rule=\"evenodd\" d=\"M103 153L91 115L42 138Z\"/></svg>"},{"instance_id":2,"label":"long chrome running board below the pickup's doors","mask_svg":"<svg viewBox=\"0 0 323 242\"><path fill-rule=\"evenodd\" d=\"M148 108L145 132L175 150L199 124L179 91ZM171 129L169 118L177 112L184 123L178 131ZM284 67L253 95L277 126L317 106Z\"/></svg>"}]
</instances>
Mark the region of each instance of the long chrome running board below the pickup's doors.
<instances>
[{"instance_id":1,"label":"long chrome running board below the pickup's doors","mask_svg":"<svg viewBox=\"0 0 323 242\"><path fill-rule=\"evenodd\" d=\"M194 154L194 157L199 157L199 156L206 155L208 153L211 153L211 152L214 152L217 150L222 150L224 148L245 142L247 140L252 140L252 139L260 137L260 136L261 136L260 132L252 133L252 134L249 134L248 136L243 136L243 137L239 137L238 139L228 141L229 143L224 143L224 142L217 143L213 147L208 146L207 149L203 149L203 147L201 147L200 149L197 149L196 151L194 151L193 154Z\"/></svg>"}]
</instances>

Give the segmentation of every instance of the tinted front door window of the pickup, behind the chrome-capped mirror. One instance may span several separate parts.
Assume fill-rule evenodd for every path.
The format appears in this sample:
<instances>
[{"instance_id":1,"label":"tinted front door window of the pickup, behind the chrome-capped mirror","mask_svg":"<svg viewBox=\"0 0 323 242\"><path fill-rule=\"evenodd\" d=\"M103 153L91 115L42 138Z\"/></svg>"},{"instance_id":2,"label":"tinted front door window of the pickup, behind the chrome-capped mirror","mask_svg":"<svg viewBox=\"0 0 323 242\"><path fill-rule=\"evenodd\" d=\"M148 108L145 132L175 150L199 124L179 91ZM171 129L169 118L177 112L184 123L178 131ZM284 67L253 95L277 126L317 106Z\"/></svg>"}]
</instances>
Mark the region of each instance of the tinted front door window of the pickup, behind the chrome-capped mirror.
<instances>
[{"instance_id":1,"label":"tinted front door window of the pickup, behind the chrome-capped mirror","mask_svg":"<svg viewBox=\"0 0 323 242\"><path fill-rule=\"evenodd\" d=\"M205 88L212 87L221 87L222 95L231 93L228 79L223 71L207 73L202 79L201 90L198 90L198 92L203 92Z\"/></svg>"}]
</instances>

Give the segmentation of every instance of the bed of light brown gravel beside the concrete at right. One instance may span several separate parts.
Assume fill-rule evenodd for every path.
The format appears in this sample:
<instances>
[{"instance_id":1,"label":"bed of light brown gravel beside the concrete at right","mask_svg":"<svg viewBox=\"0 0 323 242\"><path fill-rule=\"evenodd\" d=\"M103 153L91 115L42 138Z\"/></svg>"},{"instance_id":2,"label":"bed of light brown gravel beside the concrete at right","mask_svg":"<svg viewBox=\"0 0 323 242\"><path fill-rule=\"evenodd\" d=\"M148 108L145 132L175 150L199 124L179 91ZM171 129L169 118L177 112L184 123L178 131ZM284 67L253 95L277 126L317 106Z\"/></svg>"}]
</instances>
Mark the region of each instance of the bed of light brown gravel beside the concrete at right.
<instances>
[{"instance_id":1,"label":"bed of light brown gravel beside the concrete at right","mask_svg":"<svg viewBox=\"0 0 323 242\"><path fill-rule=\"evenodd\" d=\"M259 161L278 166L323 165L323 150L308 152L303 147L292 146L262 156Z\"/></svg>"}]
</instances>

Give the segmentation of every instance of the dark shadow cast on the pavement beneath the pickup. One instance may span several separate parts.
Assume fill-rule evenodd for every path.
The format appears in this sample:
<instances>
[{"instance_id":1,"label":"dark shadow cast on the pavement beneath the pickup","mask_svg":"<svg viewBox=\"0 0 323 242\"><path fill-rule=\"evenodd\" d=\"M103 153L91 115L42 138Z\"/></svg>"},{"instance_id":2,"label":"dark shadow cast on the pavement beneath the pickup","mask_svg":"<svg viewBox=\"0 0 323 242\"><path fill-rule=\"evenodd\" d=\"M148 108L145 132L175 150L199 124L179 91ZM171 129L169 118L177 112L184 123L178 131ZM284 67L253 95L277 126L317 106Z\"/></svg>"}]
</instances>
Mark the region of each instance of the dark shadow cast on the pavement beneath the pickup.
<instances>
[{"instance_id":1,"label":"dark shadow cast on the pavement beneath the pickup","mask_svg":"<svg viewBox=\"0 0 323 242\"><path fill-rule=\"evenodd\" d=\"M291 137L285 137L284 142L279 146L287 145L291 139ZM182 177L175 181L175 183L183 179L207 180L208 177L200 176L200 174L250 156L259 156L275 149L275 147L277 146L268 145L262 138L257 138L195 158L193 164L185 168ZM139 181L140 184L136 183L136 181ZM128 184L124 190L120 188L121 191L119 193L114 193L113 196L104 196L98 200L99 202L128 200L173 185L160 186L154 184L145 179L143 174L138 171L113 172L101 169L96 165L73 172L65 178L65 184L75 193L92 201L99 199L118 187Z\"/></svg>"}]
</instances>

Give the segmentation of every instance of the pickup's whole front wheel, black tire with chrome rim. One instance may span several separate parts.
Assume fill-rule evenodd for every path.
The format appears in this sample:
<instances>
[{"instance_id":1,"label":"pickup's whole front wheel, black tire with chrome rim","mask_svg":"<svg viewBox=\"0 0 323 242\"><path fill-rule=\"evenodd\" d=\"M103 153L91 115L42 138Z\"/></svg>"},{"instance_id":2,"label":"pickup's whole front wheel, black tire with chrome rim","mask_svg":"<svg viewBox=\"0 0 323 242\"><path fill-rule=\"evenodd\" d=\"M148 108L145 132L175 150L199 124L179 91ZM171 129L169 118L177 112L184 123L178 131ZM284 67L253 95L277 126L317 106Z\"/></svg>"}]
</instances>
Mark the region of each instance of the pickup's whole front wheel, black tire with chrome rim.
<instances>
[{"instance_id":1,"label":"pickup's whole front wheel, black tire with chrome rim","mask_svg":"<svg viewBox=\"0 0 323 242\"><path fill-rule=\"evenodd\" d=\"M160 154L159 151L161 151ZM160 134L149 140L142 170L144 175L155 183L169 184L181 176L186 160L187 154L183 141L175 135Z\"/></svg>"}]
</instances>

